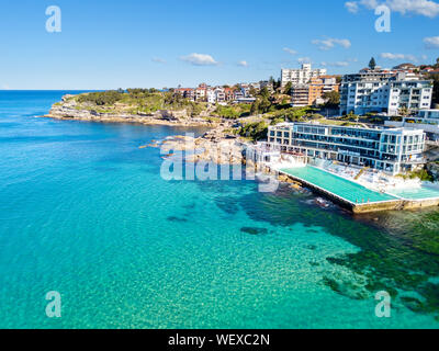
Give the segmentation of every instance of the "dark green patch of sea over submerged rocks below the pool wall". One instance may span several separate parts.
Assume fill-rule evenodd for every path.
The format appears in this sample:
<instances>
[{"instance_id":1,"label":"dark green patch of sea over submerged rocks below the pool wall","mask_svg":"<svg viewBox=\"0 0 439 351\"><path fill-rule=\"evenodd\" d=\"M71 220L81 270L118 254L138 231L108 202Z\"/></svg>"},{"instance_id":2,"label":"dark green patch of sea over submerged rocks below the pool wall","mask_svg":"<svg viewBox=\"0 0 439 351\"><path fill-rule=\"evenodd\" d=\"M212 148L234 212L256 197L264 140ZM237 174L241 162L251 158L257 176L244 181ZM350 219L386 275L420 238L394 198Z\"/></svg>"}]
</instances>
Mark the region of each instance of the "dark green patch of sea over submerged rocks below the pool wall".
<instances>
[{"instance_id":1,"label":"dark green patch of sea over submerged rocks below the pool wall","mask_svg":"<svg viewBox=\"0 0 439 351\"><path fill-rule=\"evenodd\" d=\"M222 182L216 182L222 183ZM223 184L224 185L224 184ZM222 184L205 191L221 190ZM204 186L204 184L201 184ZM429 314L439 321L439 212L387 212L352 216L333 206L319 208L313 195L292 192L281 186L277 193L248 192L228 199L217 196L217 206L227 214L239 208L254 220L289 227L322 227L360 250L327 258L348 274L324 273L322 283L334 292L354 299L365 299L380 291L393 297L393 305L414 313ZM244 230L244 229L243 229ZM260 228L245 228L250 235ZM339 272L339 270L335 270ZM372 297L373 298L373 297Z\"/></svg>"}]
</instances>

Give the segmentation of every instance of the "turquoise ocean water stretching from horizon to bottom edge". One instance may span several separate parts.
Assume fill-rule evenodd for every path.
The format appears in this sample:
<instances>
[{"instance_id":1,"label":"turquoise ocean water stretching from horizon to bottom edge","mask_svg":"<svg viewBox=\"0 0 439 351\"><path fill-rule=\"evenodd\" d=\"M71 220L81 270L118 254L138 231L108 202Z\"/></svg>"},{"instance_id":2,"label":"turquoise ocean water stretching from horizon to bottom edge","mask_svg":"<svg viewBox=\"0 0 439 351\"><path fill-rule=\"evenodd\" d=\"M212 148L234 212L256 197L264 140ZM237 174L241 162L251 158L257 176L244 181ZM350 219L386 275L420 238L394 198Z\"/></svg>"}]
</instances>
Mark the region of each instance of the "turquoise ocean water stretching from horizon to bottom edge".
<instances>
[{"instance_id":1,"label":"turquoise ocean water stretching from horizon to bottom edge","mask_svg":"<svg viewBox=\"0 0 439 351\"><path fill-rule=\"evenodd\" d=\"M0 91L0 328L439 327L437 210L166 181L139 146L202 129L35 117L65 93Z\"/></svg>"}]
</instances>

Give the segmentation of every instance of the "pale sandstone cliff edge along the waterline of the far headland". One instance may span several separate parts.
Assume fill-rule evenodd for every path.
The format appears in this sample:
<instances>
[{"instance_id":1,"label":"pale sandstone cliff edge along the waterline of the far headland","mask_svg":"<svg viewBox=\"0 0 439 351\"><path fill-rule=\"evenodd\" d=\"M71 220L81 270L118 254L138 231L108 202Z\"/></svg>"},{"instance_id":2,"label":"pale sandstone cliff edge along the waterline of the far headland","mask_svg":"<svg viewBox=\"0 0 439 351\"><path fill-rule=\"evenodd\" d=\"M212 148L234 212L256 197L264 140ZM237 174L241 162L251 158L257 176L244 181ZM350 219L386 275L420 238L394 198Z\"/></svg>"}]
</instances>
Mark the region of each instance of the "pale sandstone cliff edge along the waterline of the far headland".
<instances>
[{"instance_id":1,"label":"pale sandstone cliff edge along the waterline of the far headland","mask_svg":"<svg viewBox=\"0 0 439 351\"><path fill-rule=\"evenodd\" d=\"M52 106L49 113L43 117L55 120L76 120L103 123L138 123L149 125L170 126L215 126L216 123L202 118L190 117L185 110L160 110L151 114L131 114L123 111L102 112L95 106L85 109L79 105L74 95L63 97L63 101Z\"/></svg>"}]
</instances>

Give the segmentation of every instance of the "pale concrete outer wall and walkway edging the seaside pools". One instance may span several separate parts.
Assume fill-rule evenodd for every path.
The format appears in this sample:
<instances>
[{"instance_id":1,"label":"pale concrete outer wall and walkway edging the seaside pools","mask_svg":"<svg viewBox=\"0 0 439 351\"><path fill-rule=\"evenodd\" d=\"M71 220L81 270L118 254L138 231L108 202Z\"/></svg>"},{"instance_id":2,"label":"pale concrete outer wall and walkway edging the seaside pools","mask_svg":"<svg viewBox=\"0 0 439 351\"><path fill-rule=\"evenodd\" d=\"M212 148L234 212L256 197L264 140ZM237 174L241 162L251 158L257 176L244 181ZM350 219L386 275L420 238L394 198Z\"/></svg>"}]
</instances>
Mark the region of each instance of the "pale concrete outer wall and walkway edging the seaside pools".
<instances>
[{"instance_id":1,"label":"pale concrete outer wall and walkway edging the seaside pools","mask_svg":"<svg viewBox=\"0 0 439 351\"><path fill-rule=\"evenodd\" d=\"M307 166L307 167L309 167L309 166ZM318 169L323 172L327 172L319 168L316 168L316 169ZM334 193L323 186L319 186L319 185L311 182L309 180L306 180L301 177L289 173L288 169L284 169L284 170L275 169L274 171L293 179L294 181L301 183L302 185L311 189L314 193L320 194L320 195L329 199L334 203L340 205L344 208L351 211L354 214L373 213L373 212L382 212L382 211L403 211L403 210L415 210L415 208L439 206L439 193L438 193L437 197L435 196L435 197L429 197L429 199L405 199L401 194L395 195L392 193L386 193L387 196L391 196L393 199L384 200L384 201L372 201L372 202L368 201L368 202L363 202L363 203L352 202L348 199L337 195L336 193ZM364 188L363 185L360 185L356 182L347 180L342 177L331 174L329 172L327 172L327 173L328 173L328 177L329 176L338 177L338 178L340 178L340 181L341 180L349 181L352 184ZM364 188L364 189L368 189L368 188ZM372 191L372 190L370 190L370 191Z\"/></svg>"}]
</instances>

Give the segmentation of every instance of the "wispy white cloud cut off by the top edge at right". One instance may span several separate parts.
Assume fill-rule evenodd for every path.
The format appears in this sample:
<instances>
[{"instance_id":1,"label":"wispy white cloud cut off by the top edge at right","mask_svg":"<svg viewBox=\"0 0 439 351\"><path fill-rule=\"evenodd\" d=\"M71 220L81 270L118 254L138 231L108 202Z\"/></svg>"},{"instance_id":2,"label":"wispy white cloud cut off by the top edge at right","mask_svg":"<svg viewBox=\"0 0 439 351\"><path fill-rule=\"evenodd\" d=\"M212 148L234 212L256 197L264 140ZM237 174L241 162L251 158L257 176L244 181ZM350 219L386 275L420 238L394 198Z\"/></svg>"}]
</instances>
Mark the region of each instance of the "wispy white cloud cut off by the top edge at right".
<instances>
[{"instance_id":1,"label":"wispy white cloud cut off by the top edge at right","mask_svg":"<svg viewBox=\"0 0 439 351\"><path fill-rule=\"evenodd\" d=\"M351 13L357 13L360 7L364 7L369 10L374 10L376 7L385 4L392 11L399 12L401 14L419 14L427 18L436 18L439 15L439 3L431 0L360 0L360 1L348 1L345 7Z\"/></svg>"}]
</instances>

